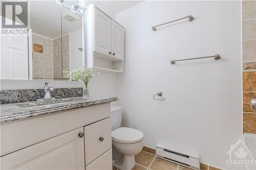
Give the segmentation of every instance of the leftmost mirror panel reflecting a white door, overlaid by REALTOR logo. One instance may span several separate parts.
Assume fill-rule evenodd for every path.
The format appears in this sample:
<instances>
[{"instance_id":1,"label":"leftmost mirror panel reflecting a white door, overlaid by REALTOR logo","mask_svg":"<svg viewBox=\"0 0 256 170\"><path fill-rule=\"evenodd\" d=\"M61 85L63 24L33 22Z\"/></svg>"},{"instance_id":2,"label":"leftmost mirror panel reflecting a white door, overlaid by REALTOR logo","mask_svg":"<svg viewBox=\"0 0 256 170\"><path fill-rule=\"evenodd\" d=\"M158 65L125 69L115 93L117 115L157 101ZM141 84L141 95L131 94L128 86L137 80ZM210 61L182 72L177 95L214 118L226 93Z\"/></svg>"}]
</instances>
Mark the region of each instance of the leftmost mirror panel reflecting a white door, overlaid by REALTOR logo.
<instances>
[{"instance_id":1,"label":"leftmost mirror panel reflecting a white door, overlaid by REALTOR logo","mask_svg":"<svg viewBox=\"0 0 256 170\"><path fill-rule=\"evenodd\" d=\"M28 28L27 28L27 4L17 8L19 17L13 17L15 2L0 2L0 8L5 9L5 14L0 15L0 79L28 80L29 60L28 58ZM8 4L14 3L14 4ZM2 6L3 5L3 6ZM20 27L17 27L20 26Z\"/></svg>"}]
</instances>

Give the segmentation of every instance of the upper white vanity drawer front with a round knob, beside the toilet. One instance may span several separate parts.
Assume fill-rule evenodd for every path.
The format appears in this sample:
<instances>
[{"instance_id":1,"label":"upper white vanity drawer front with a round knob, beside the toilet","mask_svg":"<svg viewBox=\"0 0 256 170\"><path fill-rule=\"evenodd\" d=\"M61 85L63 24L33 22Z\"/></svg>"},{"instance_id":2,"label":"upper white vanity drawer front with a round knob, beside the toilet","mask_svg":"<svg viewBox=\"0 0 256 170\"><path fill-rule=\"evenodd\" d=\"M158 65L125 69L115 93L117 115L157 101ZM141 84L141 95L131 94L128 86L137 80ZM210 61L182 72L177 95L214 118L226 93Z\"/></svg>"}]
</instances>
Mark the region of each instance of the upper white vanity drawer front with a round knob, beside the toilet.
<instances>
[{"instance_id":1,"label":"upper white vanity drawer front with a round knob, beside the toilet","mask_svg":"<svg viewBox=\"0 0 256 170\"><path fill-rule=\"evenodd\" d=\"M111 122L106 118L84 127L84 149L86 165L111 149Z\"/></svg>"}]
</instances>

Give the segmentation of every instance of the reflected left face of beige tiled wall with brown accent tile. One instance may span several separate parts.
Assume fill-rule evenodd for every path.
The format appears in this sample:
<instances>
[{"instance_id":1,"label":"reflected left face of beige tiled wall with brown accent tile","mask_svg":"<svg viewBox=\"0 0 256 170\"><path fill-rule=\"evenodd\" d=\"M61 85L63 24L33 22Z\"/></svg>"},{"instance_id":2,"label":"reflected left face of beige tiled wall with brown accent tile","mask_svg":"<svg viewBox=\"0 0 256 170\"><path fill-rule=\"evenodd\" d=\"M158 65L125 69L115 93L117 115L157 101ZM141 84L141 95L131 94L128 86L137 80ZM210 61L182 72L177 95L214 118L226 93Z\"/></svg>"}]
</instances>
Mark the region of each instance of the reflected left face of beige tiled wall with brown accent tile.
<instances>
[{"instance_id":1,"label":"reflected left face of beige tiled wall with brown accent tile","mask_svg":"<svg viewBox=\"0 0 256 170\"><path fill-rule=\"evenodd\" d=\"M32 34L33 79L53 79L53 41Z\"/></svg>"}]
</instances>

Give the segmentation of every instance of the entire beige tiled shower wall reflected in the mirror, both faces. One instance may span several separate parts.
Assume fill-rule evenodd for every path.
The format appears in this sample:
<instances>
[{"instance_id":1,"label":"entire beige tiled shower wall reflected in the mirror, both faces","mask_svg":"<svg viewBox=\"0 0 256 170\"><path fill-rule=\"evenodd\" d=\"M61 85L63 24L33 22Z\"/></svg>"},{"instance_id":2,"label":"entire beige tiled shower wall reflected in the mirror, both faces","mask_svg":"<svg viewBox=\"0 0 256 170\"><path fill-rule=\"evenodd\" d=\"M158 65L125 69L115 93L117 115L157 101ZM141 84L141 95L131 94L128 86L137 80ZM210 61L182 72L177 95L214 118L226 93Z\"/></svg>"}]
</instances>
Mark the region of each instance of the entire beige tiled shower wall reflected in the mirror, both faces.
<instances>
[{"instance_id":1,"label":"entire beige tiled shower wall reflected in the mirror, both faces","mask_svg":"<svg viewBox=\"0 0 256 170\"><path fill-rule=\"evenodd\" d=\"M62 38L62 60L61 38L52 40L36 34L32 38L33 79L62 79L62 69L70 68L69 34Z\"/></svg>"}]
</instances>

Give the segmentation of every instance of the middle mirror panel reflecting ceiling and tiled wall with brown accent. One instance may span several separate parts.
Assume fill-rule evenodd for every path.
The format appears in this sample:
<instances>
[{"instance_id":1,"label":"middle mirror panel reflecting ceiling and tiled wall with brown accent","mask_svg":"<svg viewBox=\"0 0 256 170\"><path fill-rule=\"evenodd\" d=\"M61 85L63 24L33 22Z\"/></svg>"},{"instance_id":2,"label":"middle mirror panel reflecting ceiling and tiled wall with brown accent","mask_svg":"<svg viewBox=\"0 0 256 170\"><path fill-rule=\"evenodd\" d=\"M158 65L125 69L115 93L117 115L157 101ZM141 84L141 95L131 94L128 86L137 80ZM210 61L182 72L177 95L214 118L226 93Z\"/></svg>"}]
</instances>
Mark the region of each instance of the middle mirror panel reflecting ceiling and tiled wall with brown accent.
<instances>
[{"instance_id":1,"label":"middle mirror panel reflecting ceiling and tiled wall with brown accent","mask_svg":"<svg viewBox=\"0 0 256 170\"><path fill-rule=\"evenodd\" d=\"M61 79L61 6L30 1L33 79Z\"/></svg>"}]
</instances>

